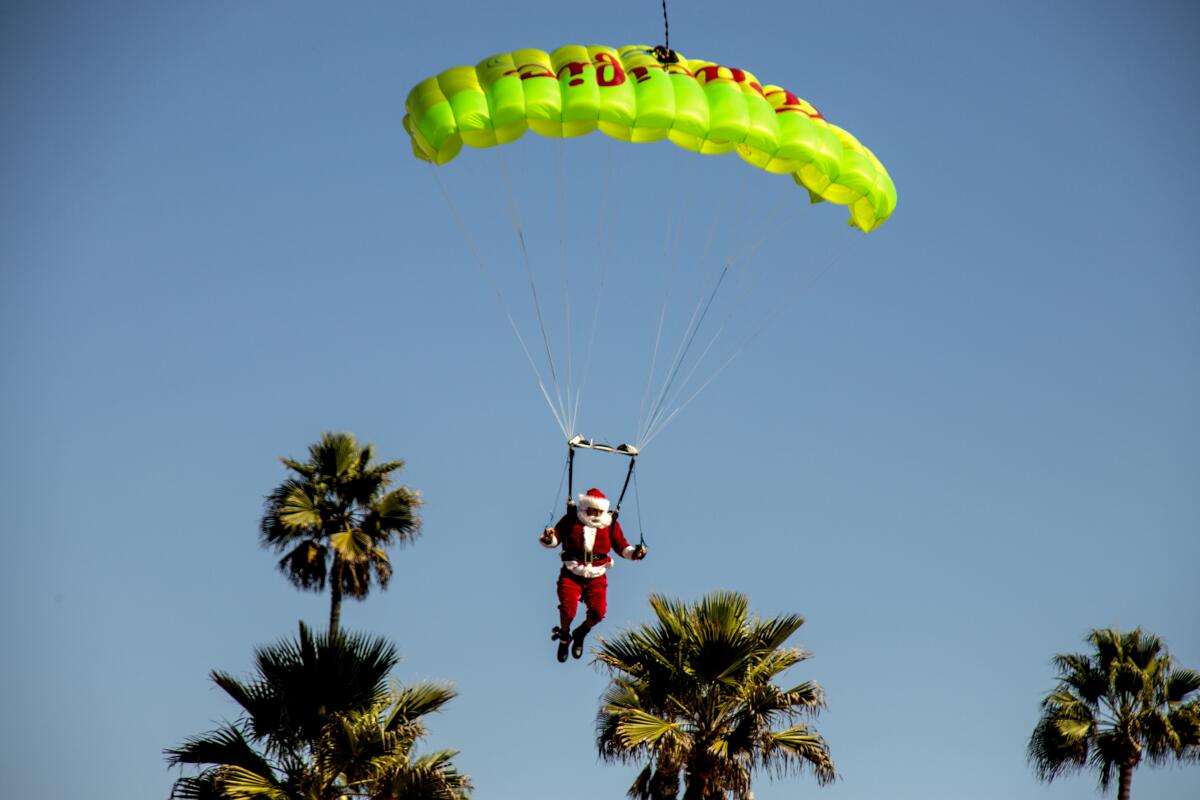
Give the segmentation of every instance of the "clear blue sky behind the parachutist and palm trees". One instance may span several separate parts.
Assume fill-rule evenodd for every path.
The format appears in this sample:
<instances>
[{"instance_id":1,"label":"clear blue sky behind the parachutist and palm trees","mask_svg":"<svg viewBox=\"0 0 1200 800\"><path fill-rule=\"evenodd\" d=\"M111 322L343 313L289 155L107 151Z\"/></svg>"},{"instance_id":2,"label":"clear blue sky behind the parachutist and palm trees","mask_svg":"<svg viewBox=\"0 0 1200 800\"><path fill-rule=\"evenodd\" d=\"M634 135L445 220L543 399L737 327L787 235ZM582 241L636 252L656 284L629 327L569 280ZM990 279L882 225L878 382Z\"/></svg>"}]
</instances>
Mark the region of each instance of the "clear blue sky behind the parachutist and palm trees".
<instances>
[{"instance_id":1,"label":"clear blue sky behind the parachutist and palm trees","mask_svg":"<svg viewBox=\"0 0 1200 800\"><path fill-rule=\"evenodd\" d=\"M868 144L895 216L863 236L733 156L599 134L438 178L410 156L418 80L658 43L652 1L4 6L0 794L167 796L162 748L234 712L208 672L324 624L257 524L278 456L352 431L426 500L391 588L343 624L395 640L397 678L457 686L431 746L462 751L480 798L623 796L635 770L593 745L605 679L547 638L557 567L534 536L565 447L505 319L536 354L508 172L545 296L572 282L546 303L556 347L570 307L586 349L606 270L580 417L598 438L634 435L661 299L678 335L712 254L767 234L714 317L736 357L638 462L652 551L614 570L598 633L646 620L650 593L806 618L796 673L827 691L842 780L762 780L760 800L1094 796L1025 763L1050 657L1141 625L1200 667L1200 17L671 11L674 48ZM581 457L577 488L612 493L620 467ZM1198 786L1142 769L1134 796Z\"/></svg>"}]
</instances>

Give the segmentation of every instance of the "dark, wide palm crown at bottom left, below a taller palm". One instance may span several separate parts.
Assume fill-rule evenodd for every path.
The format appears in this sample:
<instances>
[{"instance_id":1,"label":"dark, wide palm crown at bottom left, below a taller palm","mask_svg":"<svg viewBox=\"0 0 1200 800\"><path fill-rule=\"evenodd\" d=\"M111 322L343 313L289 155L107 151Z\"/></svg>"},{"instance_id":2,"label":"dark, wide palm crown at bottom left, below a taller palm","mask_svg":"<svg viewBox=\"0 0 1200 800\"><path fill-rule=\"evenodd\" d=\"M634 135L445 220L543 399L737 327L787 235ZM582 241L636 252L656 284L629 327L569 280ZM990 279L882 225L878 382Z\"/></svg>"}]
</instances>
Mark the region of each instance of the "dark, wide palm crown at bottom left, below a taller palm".
<instances>
[{"instance_id":1,"label":"dark, wide palm crown at bottom left, below a taller palm","mask_svg":"<svg viewBox=\"0 0 1200 800\"><path fill-rule=\"evenodd\" d=\"M256 674L212 680L238 703L235 722L167 750L172 766L197 775L175 781L172 800L463 800L470 781L454 751L414 756L422 717L455 697L431 682L389 688L397 661L382 638L314 636L256 652Z\"/></svg>"}]
</instances>

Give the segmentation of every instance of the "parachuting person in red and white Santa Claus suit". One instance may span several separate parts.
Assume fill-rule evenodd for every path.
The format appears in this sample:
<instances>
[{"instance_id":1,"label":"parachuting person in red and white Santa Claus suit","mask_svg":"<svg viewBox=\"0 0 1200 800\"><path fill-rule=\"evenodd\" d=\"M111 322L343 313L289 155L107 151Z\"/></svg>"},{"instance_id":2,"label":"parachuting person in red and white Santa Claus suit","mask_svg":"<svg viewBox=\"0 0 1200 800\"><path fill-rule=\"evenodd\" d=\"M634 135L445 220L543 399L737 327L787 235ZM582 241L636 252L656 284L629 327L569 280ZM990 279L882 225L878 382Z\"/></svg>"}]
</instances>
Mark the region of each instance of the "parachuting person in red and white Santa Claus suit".
<instances>
[{"instance_id":1,"label":"parachuting person in red and white Santa Claus suit","mask_svg":"<svg viewBox=\"0 0 1200 800\"><path fill-rule=\"evenodd\" d=\"M553 637L558 639L558 660L566 660L570 646L576 658L583 655L583 638L604 619L607 610L608 578L605 575L616 551L622 558L641 560L646 547L630 545L620 523L612 518L608 498L600 489L588 489L578 495L575 513L566 513L553 528L541 536L544 547L562 547L563 569L558 573L558 627ZM578 610L580 600L587 607L583 624L571 631L571 621Z\"/></svg>"}]
</instances>

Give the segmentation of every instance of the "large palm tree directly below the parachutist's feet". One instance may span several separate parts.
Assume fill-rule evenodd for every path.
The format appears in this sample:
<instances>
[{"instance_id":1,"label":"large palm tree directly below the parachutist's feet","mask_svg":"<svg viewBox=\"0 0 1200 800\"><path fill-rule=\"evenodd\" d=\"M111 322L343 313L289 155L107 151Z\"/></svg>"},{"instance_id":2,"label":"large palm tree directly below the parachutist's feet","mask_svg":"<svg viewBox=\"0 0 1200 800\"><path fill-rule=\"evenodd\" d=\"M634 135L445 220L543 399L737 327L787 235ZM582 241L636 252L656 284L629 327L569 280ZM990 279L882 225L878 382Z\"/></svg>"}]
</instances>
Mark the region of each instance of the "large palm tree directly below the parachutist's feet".
<instances>
[{"instance_id":1,"label":"large palm tree directly below the parachutist's feet","mask_svg":"<svg viewBox=\"0 0 1200 800\"><path fill-rule=\"evenodd\" d=\"M684 800L749 800L757 771L836 777L824 739L797 723L824 705L821 687L774 684L809 657L782 646L802 616L751 618L745 595L731 591L694 604L652 595L650 608L654 625L596 651L611 679L596 746L605 760L643 765L630 798L674 800L683 784Z\"/></svg>"}]
</instances>

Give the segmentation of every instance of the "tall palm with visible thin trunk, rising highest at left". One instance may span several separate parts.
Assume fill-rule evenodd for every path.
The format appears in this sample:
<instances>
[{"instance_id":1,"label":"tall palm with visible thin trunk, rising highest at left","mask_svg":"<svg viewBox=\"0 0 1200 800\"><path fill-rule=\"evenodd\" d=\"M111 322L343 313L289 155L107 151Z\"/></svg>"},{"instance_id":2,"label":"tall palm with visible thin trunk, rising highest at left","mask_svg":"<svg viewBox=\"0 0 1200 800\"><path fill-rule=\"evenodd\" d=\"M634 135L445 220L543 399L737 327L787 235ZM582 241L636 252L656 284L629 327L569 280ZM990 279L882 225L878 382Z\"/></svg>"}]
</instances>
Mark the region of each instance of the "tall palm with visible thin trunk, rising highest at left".
<instances>
[{"instance_id":1,"label":"tall palm with visible thin trunk, rising highest at left","mask_svg":"<svg viewBox=\"0 0 1200 800\"><path fill-rule=\"evenodd\" d=\"M391 561L385 547L416 539L418 492L388 491L404 462L371 463L374 450L349 433L323 433L308 461L280 461L294 474L271 492L263 512L262 542L277 553L280 570L300 589L330 585L329 630L337 632L342 596L362 600L372 577L386 589Z\"/></svg>"}]
</instances>

